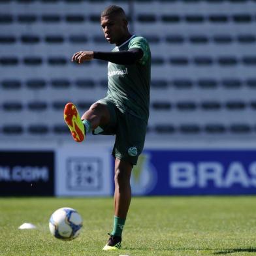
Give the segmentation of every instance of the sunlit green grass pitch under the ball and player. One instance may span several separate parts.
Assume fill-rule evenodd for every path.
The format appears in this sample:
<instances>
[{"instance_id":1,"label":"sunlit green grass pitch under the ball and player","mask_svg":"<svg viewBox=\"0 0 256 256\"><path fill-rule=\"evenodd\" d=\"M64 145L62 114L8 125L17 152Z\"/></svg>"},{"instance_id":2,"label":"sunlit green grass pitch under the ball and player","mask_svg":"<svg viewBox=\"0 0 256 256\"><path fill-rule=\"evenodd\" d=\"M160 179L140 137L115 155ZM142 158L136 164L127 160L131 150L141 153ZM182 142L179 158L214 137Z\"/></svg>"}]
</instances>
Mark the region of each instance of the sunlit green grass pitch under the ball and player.
<instances>
[{"instance_id":1,"label":"sunlit green grass pitch under the ball and player","mask_svg":"<svg viewBox=\"0 0 256 256\"><path fill-rule=\"evenodd\" d=\"M63 206L84 219L76 240L63 242L48 219ZM112 199L0 198L0 255L256 255L256 197L135 197L123 249L101 249L112 229ZM35 230L18 230L29 222Z\"/></svg>"}]
</instances>

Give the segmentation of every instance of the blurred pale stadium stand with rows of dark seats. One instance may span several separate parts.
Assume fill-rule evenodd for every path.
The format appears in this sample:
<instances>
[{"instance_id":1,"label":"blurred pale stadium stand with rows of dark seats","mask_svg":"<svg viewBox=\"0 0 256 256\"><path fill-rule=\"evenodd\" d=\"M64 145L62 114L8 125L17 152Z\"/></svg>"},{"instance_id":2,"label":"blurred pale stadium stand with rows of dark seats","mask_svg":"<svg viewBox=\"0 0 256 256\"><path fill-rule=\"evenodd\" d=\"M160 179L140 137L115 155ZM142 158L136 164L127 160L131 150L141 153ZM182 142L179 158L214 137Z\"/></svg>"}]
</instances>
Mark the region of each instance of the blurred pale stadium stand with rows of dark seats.
<instances>
[{"instance_id":1,"label":"blurred pale stadium stand with rows of dark seats","mask_svg":"<svg viewBox=\"0 0 256 256\"><path fill-rule=\"evenodd\" d=\"M99 24L111 3L0 1L0 139L69 139L65 103L73 101L82 112L104 97L106 63L76 65L71 56L112 50ZM256 1L114 3L151 45L149 139L255 137Z\"/></svg>"}]
</instances>

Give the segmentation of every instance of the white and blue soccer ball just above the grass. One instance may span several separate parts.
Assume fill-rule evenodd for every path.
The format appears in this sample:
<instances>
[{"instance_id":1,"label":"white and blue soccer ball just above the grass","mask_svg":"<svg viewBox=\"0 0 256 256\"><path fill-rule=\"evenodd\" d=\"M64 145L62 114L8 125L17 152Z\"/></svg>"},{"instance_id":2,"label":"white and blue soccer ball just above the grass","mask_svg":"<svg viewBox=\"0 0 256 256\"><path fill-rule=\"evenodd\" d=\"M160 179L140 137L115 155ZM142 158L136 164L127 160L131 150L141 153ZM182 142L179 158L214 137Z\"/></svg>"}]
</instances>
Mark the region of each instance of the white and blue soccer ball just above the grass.
<instances>
[{"instance_id":1,"label":"white and blue soccer ball just above the grass","mask_svg":"<svg viewBox=\"0 0 256 256\"><path fill-rule=\"evenodd\" d=\"M58 239L73 240L80 234L83 225L82 217L72 208L56 210L49 221L50 232Z\"/></svg>"}]
</instances>

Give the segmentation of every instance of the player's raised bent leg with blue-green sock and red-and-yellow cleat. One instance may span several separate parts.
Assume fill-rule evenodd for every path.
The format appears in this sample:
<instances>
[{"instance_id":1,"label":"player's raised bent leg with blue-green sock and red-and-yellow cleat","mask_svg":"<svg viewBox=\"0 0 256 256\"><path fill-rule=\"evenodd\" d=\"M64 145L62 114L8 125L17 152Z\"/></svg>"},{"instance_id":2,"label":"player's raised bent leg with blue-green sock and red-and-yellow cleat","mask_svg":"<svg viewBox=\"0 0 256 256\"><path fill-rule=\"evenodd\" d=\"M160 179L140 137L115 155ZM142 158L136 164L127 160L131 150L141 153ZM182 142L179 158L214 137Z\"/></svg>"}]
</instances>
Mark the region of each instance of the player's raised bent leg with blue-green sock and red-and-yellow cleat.
<instances>
[{"instance_id":1,"label":"player's raised bent leg with blue-green sock and red-and-yellow cleat","mask_svg":"<svg viewBox=\"0 0 256 256\"><path fill-rule=\"evenodd\" d=\"M96 129L99 125L106 125L110 120L110 114L105 104L94 103L82 118L73 103L67 103L64 108L64 120L67 123L76 142L82 142L86 133Z\"/></svg>"}]
</instances>

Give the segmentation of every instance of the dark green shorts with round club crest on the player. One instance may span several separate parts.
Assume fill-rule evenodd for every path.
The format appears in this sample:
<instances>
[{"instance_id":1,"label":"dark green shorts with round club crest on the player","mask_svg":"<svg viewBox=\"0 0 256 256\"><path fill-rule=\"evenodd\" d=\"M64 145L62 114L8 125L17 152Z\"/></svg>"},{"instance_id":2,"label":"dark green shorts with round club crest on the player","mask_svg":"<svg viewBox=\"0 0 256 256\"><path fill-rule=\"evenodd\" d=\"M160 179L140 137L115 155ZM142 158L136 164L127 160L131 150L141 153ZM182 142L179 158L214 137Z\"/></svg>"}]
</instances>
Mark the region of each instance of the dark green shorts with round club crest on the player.
<instances>
[{"instance_id":1,"label":"dark green shorts with round club crest on the player","mask_svg":"<svg viewBox=\"0 0 256 256\"><path fill-rule=\"evenodd\" d=\"M109 99L97 101L106 104L110 112L110 123L97 127L93 135L116 135L112 155L118 159L136 165L138 156L143 150L146 136L146 121L129 113L123 113Z\"/></svg>"}]
</instances>

